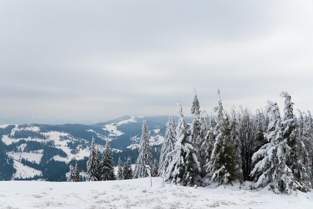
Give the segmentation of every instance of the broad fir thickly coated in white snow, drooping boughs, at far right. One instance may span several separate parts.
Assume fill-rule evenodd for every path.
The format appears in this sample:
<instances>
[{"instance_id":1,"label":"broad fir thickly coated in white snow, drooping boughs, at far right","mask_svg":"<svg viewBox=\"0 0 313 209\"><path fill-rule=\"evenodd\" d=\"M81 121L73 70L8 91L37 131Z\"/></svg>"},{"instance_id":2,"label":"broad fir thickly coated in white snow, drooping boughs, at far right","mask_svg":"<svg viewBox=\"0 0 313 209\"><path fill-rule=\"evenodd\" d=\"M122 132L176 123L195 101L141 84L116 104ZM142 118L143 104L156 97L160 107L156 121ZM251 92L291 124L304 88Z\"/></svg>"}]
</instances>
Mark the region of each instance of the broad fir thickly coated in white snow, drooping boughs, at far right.
<instances>
[{"instance_id":1,"label":"broad fir thickly coated in white snow, drooping boughs, at far right","mask_svg":"<svg viewBox=\"0 0 313 209\"><path fill-rule=\"evenodd\" d=\"M290 147L282 139L281 119L276 102L267 102L268 127L264 137L268 143L263 145L252 156L257 161L250 175L255 179L255 187L269 185L275 193L290 193L295 189L293 174L286 165Z\"/></svg>"}]
</instances>

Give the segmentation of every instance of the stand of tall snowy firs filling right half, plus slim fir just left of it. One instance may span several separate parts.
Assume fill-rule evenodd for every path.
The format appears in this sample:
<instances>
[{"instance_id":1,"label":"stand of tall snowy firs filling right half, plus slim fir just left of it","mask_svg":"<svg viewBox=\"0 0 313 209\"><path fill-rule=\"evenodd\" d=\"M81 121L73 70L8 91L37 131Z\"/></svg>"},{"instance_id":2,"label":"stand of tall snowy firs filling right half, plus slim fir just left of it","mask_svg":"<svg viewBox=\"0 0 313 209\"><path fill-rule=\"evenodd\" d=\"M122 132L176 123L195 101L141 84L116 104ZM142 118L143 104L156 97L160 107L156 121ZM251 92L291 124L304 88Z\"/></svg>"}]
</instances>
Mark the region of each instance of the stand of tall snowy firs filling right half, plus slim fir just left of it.
<instances>
[{"instance_id":1,"label":"stand of tall snowy firs filling right half, plus slim fir just left of it","mask_svg":"<svg viewBox=\"0 0 313 209\"><path fill-rule=\"evenodd\" d=\"M287 92L283 117L276 102L255 114L246 108L223 109L218 90L216 117L200 110L196 92L191 107L193 121L184 121L178 103L178 124L169 116L162 145L158 176L171 183L212 186L253 181L253 188L268 186L276 193L309 191L313 181L313 120L309 112L296 118ZM147 176L151 165L148 132L142 125L139 157L134 177Z\"/></svg>"}]
</instances>

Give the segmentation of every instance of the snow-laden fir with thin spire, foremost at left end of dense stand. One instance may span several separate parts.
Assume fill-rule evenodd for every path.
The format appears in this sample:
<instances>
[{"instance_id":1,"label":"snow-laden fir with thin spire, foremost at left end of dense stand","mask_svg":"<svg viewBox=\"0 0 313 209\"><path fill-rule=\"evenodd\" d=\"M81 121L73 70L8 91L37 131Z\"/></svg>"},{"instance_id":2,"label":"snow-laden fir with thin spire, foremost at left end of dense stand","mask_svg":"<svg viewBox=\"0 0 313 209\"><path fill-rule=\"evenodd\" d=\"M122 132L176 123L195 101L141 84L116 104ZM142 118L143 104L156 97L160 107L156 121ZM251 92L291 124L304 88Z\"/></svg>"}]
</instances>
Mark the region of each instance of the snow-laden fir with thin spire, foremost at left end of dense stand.
<instances>
[{"instance_id":1,"label":"snow-laden fir with thin spire, foremost at left end of dense stand","mask_svg":"<svg viewBox=\"0 0 313 209\"><path fill-rule=\"evenodd\" d=\"M184 121L181 103L178 102L178 125L176 127L176 143L174 150L169 153L172 161L169 163L165 179L172 183L192 186L196 170L200 170L195 151L189 142L188 125Z\"/></svg>"}]
</instances>

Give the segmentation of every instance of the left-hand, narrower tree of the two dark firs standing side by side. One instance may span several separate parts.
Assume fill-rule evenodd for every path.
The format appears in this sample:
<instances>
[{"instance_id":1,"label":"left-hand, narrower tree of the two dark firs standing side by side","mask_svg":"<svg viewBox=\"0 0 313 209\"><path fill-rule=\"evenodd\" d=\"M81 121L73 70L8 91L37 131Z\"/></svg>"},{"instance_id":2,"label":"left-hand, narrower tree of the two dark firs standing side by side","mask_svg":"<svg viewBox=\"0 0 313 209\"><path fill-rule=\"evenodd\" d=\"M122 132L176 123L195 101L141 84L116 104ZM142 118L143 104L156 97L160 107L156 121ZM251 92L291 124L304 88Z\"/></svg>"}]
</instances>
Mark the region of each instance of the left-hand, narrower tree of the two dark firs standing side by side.
<instances>
[{"instance_id":1,"label":"left-hand, narrower tree of the two dark firs standing side by side","mask_svg":"<svg viewBox=\"0 0 313 209\"><path fill-rule=\"evenodd\" d=\"M87 161L87 177L86 181L97 181L98 173L98 152L95 148L94 138L92 137L91 146L90 146L90 155Z\"/></svg>"}]
</instances>

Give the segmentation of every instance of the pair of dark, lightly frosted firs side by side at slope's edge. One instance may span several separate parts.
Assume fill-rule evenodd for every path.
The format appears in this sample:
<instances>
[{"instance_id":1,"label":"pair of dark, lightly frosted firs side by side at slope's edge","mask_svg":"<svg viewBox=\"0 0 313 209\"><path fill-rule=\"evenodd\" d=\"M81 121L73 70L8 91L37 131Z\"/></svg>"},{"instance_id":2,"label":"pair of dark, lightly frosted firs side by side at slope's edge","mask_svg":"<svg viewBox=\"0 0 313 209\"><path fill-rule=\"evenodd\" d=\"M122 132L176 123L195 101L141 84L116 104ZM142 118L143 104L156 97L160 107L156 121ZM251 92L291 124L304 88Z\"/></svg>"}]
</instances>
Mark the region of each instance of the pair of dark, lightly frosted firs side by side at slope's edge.
<instances>
[{"instance_id":1,"label":"pair of dark, lightly frosted firs side by side at slope's edge","mask_svg":"<svg viewBox=\"0 0 313 209\"><path fill-rule=\"evenodd\" d=\"M90 155L87 161L86 181L115 180L113 158L111 157L111 149L108 141L106 141L101 159L99 159L99 155L100 153L94 144L94 138L92 138Z\"/></svg>"}]
</instances>

